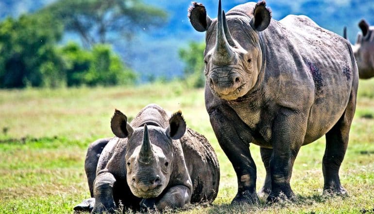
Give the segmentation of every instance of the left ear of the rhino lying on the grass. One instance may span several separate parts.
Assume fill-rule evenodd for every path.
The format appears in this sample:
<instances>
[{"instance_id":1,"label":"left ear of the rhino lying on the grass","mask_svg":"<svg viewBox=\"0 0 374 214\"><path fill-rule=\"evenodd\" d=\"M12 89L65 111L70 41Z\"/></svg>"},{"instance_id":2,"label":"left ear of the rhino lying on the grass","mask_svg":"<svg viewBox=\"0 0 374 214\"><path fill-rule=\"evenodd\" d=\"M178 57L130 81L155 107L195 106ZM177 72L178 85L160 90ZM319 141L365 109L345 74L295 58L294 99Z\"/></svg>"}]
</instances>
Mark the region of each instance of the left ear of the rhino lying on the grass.
<instances>
[{"instance_id":1,"label":"left ear of the rhino lying on the grass","mask_svg":"<svg viewBox=\"0 0 374 214\"><path fill-rule=\"evenodd\" d=\"M127 138L134 132L133 127L127 123L127 117L119 110L115 110L112 120L110 121L112 132L119 138Z\"/></svg>"}]
</instances>

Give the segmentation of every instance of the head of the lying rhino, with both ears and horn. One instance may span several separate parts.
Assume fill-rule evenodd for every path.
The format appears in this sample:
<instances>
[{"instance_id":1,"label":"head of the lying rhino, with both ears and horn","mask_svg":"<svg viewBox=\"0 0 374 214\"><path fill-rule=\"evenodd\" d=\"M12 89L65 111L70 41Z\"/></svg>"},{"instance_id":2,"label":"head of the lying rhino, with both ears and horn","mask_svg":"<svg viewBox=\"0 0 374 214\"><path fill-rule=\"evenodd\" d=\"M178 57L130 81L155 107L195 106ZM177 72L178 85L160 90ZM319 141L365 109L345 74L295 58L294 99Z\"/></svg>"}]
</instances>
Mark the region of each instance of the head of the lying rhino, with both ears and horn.
<instances>
[{"instance_id":1,"label":"head of the lying rhino, with both ears and horn","mask_svg":"<svg viewBox=\"0 0 374 214\"><path fill-rule=\"evenodd\" d=\"M147 123L133 128L117 109L111 120L113 133L127 138L127 183L131 192L141 198L157 197L167 187L173 169L172 140L181 138L186 131L180 111L171 116L167 128Z\"/></svg>"}]
</instances>

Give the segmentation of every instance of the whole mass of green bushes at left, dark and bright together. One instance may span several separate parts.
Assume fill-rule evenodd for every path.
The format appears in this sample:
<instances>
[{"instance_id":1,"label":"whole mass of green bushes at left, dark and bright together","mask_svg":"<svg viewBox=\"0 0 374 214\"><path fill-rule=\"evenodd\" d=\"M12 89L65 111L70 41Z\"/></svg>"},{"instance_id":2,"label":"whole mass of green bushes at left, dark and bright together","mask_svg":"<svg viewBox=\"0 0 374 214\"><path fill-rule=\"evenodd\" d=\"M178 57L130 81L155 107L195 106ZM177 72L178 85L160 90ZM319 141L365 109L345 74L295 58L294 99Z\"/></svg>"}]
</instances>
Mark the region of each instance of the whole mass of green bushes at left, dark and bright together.
<instances>
[{"instance_id":1,"label":"whole mass of green bushes at left, dark and bright together","mask_svg":"<svg viewBox=\"0 0 374 214\"><path fill-rule=\"evenodd\" d=\"M0 88L130 84L136 75L111 47L57 47L63 26L46 14L0 23Z\"/></svg>"}]
</instances>

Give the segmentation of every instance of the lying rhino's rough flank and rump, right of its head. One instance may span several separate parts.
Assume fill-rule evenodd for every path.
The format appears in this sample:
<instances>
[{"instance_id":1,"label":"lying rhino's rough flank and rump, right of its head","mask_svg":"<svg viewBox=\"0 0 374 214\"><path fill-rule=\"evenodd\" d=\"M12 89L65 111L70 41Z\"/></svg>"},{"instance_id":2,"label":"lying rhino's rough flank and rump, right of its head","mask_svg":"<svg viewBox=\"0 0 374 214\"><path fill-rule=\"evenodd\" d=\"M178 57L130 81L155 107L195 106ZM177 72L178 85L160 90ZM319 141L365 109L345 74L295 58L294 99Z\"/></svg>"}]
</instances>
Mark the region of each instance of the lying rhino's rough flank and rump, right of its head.
<instances>
[{"instance_id":1,"label":"lying rhino's rough flank and rump, right of its head","mask_svg":"<svg viewBox=\"0 0 374 214\"><path fill-rule=\"evenodd\" d=\"M190 128L187 128L180 142L193 185L191 203L213 201L220 182L216 153L203 135Z\"/></svg>"}]
</instances>

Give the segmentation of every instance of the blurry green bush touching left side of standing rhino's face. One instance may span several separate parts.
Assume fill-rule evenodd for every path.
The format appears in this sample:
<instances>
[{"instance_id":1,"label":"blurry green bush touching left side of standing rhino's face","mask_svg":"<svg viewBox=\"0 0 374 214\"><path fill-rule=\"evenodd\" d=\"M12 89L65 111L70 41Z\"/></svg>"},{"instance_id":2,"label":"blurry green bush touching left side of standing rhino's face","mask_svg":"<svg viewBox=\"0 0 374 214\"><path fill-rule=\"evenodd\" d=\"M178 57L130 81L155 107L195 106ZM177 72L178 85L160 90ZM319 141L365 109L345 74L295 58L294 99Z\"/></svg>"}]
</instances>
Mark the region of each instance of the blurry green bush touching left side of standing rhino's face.
<instances>
[{"instance_id":1,"label":"blurry green bush touching left side of standing rhino's face","mask_svg":"<svg viewBox=\"0 0 374 214\"><path fill-rule=\"evenodd\" d=\"M187 48L179 50L179 57L185 63L184 79L189 87L202 88L204 77L204 42L190 42Z\"/></svg>"}]
</instances>

